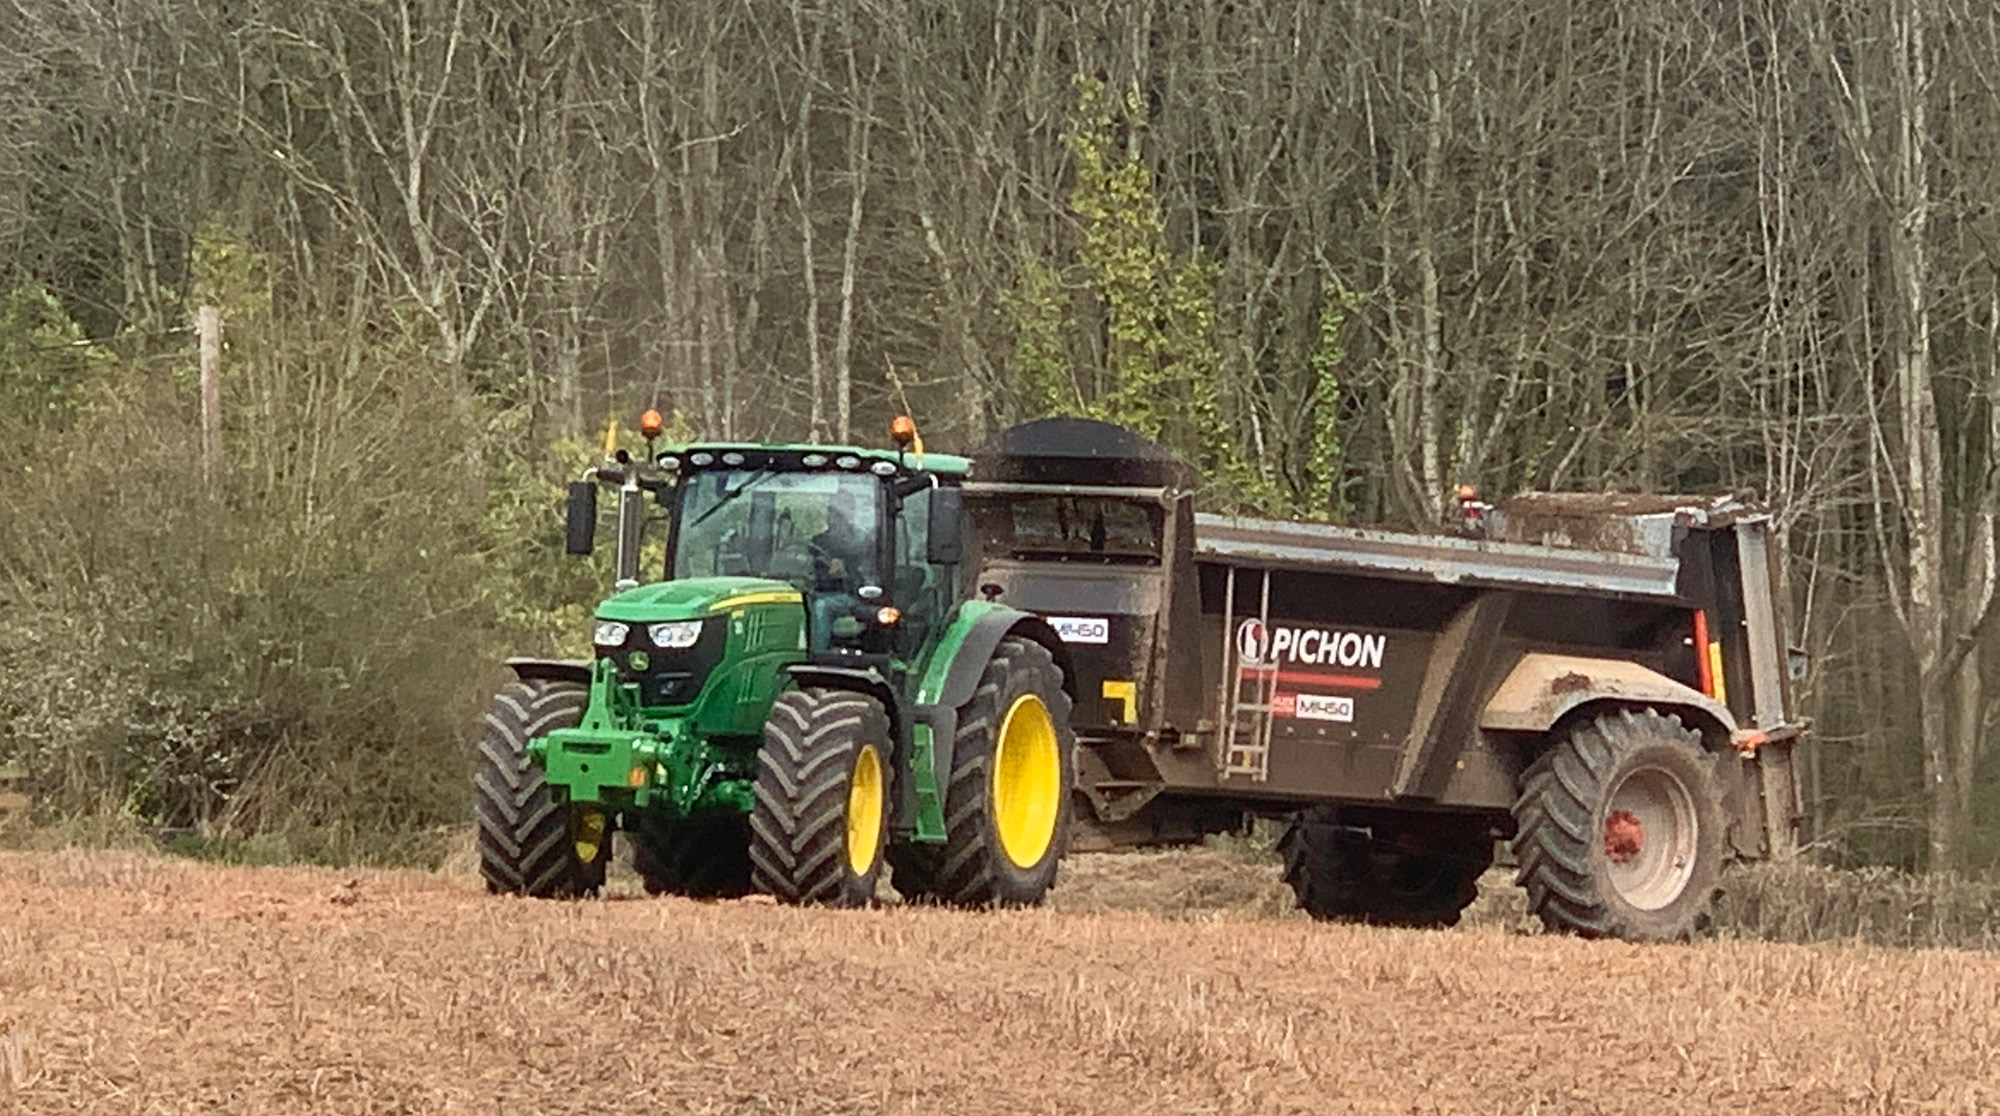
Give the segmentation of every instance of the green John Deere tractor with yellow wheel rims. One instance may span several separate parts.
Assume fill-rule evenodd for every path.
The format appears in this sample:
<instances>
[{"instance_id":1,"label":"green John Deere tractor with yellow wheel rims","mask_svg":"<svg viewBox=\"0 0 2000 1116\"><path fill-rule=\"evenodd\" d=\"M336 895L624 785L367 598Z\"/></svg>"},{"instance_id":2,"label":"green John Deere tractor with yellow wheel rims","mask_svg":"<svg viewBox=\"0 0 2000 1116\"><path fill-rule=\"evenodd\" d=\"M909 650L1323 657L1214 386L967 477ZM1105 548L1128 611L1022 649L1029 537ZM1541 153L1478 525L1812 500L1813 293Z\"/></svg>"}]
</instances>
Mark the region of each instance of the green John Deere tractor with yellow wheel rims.
<instances>
[{"instance_id":1,"label":"green John Deere tractor with yellow wheel rims","mask_svg":"<svg viewBox=\"0 0 2000 1116\"><path fill-rule=\"evenodd\" d=\"M906 418L888 450L658 428L570 484L572 554L618 492L616 590L594 658L508 662L472 776L488 890L588 894L622 830L652 894L862 906L888 864L906 898L1040 902L1068 846L1070 660L972 592L970 462L922 454Z\"/></svg>"}]
</instances>

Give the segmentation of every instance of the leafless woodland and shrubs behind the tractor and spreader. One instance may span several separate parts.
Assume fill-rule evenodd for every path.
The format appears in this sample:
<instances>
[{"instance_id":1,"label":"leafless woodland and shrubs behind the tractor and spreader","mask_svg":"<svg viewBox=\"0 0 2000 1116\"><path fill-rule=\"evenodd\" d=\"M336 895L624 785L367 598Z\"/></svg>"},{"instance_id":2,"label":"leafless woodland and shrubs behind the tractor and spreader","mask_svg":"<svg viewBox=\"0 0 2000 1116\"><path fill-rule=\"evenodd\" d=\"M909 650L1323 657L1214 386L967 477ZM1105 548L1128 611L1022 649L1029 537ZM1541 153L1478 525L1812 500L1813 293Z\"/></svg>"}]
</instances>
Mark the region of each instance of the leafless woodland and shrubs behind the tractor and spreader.
<instances>
[{"instance_id":1,"label":"leafless woodland and shrubs behind the tractor and spreader","mask_svg":"<svg viewBox=\"0 0 2000 1116\"><path fill-rule=\"evenodd\" d=\"M394 856L606 416L1746 490L1816 848L2000 862L1990 0L0 0L0 766ZM224 312L204 478L196 304ZM384 838L388 834L388 838Z\"/></svg>"}]
</instances>

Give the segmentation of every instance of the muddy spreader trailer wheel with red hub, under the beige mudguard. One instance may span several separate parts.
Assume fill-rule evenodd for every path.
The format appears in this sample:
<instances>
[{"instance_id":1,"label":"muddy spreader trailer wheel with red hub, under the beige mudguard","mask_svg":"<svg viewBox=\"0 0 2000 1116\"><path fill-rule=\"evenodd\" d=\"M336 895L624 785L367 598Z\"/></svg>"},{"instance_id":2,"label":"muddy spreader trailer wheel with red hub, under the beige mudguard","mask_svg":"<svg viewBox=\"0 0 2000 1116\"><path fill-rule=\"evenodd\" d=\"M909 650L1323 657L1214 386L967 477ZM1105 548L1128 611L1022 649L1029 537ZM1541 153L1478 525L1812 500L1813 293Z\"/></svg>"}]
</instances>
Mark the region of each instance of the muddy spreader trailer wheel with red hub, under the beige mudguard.
<instances>
[{"instance_id":1,"label":"muddy spreader trailer wheel with red hub, under the beige mudguard","mask_svg":"<svg viewBox=\"0 0 2000 1116\"><path fill-rule=\"evenodd\" d=\"M1722 876L1722 790L1696 732L1656 710L1578 724L1514 804L1528 908L1584 938L1678 942Z\"/></svg>"}]
</instances>

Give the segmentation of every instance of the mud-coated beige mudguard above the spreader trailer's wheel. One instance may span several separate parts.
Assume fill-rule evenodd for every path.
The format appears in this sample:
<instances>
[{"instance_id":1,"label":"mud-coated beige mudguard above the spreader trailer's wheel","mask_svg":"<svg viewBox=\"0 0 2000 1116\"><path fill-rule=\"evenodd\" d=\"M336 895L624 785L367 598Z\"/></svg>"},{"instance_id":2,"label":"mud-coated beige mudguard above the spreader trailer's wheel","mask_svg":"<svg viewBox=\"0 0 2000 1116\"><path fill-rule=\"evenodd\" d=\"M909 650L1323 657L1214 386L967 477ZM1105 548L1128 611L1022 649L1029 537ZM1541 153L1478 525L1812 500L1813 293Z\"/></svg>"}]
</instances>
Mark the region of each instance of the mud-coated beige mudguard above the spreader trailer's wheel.
<instances>
[{"instance_id":1,"label":"mud-coated beige mudguard above the spreader trailer's wheel","mask_svg":"<svg viewBox=\"0 0 2000 1116\"><path fill-rule=\"evenodd\" d=\"M1654 706L1682 714L1710 748L1736 734L1730 710L1700 690L1618 658L1528 652L1480 710L1492 732L1548 732L1584 706Z\"/></svg>"}]
</instances>

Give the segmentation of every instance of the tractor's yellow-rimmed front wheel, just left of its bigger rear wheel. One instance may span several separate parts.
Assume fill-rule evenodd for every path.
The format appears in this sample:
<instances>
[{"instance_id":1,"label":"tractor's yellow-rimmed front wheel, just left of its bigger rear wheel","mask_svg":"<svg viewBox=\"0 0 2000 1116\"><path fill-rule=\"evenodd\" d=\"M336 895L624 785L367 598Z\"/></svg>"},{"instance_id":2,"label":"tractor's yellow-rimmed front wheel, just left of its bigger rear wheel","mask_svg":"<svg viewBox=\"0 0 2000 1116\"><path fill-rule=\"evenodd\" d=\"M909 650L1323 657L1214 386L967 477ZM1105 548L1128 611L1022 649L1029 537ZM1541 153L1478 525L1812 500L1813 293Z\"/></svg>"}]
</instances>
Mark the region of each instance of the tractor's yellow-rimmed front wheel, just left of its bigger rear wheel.
<instances>
[{"instance_id":1,"label":"tractor's yellow-rimmed front wheel, just left of its bigger rear wheel","mask_svg":"<svg viewBox=\"0 0 2000 1116\"><path fill-rule=\"evenodd\" d=\"M770 706L750 810L750 878L794 904L866 906L888 844L888 714L844 690Z\"/></svg>"}]
</instances>

